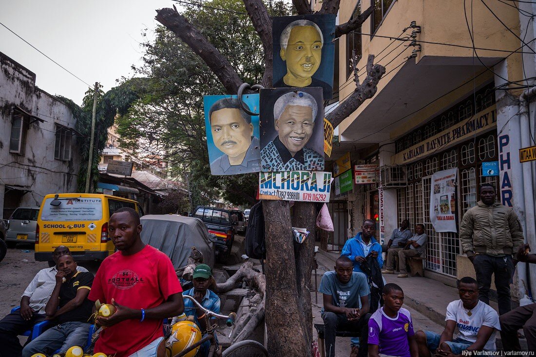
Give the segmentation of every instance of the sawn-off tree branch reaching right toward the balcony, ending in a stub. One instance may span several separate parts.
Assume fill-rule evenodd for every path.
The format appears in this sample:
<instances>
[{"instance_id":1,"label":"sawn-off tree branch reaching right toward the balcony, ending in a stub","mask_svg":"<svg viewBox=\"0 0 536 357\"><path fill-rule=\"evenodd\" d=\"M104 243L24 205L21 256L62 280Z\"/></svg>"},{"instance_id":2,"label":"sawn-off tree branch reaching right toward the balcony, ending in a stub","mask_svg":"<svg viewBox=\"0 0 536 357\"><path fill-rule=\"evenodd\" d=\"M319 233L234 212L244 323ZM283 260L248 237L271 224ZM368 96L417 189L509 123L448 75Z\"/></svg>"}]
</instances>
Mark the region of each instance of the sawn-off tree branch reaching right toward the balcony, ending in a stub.
<instances>
[{"instance_id":1,"label":"sawn-off tree branch reaching right toward the balcony, ending in a stub","mask_svg":"<svg viewBox=\"0 0 536 357\"><path fill-rule=\"evenodd\" d=\"M385 67L381 64L374 64L374 55L369 55L367 60L367 78L361 83L346 100L344 100L336 110L327 114L333 127L337 127L344 119L350 116L367 99L374 97L378 90L379 80L385 74Z\"/></svg>"}]
</instances>

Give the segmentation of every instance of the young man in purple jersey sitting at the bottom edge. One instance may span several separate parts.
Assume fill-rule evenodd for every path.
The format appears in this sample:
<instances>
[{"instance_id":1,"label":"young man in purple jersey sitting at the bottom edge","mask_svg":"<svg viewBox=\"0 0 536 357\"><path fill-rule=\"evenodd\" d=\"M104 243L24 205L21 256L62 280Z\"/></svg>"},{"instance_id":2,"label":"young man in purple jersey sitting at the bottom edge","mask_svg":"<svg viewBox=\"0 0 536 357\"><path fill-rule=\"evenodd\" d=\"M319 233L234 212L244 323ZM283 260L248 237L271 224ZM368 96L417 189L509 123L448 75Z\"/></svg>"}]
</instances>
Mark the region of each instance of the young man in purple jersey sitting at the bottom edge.
<instances>
[{"instance_id":1,"label":"young man in purple jersey sitting at the bottom edge","mask_svg":"<svg viewBox=\"0 0 536 357\"><path fill-rule=\"evenodd\" d=\"M404 309L404 292L393 283L383 287L383 307L369 319L369 356L418 357L410 311Z\"/></svg>"}]
</instances>

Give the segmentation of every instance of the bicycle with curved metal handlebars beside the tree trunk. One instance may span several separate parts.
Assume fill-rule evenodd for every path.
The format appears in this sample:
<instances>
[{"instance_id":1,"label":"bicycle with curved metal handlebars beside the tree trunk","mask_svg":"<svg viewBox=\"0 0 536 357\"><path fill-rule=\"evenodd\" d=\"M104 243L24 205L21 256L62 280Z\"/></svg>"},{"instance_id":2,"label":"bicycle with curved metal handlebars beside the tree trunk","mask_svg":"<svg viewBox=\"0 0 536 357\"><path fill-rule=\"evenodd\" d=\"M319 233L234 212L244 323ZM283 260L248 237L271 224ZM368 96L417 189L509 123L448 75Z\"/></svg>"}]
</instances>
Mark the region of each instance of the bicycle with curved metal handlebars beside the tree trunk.
<instances>
[{"instance_id":1,"label":"bicycle with curved metal handlebars beside the tree trunk","mask_svg":"<svg viewBox=\"0 0 536 357\"><path fill-rule=\"evenodd\" d=\"M240 341L239 343L231 345L222 354L219 351L218 344L216 343L216 339L214 337L214 332L218 324L216 322L212 324L210 320L212 317L219 319L227 319L226 325L230 327L234 325L236 314L234 312L231 312L228 316L216 314L215 312L205 309L192 296L183 295L182 297L188 298L193 302L194 305L196 305L197 309L201 309L205 312L204 318L207 326L206 334L196 344L193 344L187 349L184 349L184 351L173 355L173 357L183 357L189 352L194 351L197 347L201 346L203 343L205 343L205 341L209 340L211 344L209 349L209 357L268 357L268 351L266 350L266 348L262 344L254 340Z\"/></svg>"}]
</instances>

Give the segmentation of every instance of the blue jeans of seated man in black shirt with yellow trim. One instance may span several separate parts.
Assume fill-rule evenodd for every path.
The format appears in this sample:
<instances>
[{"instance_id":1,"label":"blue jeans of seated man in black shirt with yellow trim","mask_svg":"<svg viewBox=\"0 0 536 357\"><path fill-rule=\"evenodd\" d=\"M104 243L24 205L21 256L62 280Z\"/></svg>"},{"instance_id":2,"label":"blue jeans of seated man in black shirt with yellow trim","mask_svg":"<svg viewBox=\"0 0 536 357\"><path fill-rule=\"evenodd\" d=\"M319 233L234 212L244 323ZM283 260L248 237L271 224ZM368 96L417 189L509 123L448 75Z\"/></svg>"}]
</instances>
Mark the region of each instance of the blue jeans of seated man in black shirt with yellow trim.
<instances>
[{"instance_id":1,"label":"blue jeans of seated man in black shirt with yellow trim","mask_svg":"<svg viewBox=\"0 0 536 357\"><path fill-rule=\"evenodd\" d=\"M72 346L85 348L90 326L85 322L65 322L54 326L27 344L23 348L23 357L31 357L35 353L51 355L58 348L58 353L67 352Z\"/></svg>"}]
</instances>

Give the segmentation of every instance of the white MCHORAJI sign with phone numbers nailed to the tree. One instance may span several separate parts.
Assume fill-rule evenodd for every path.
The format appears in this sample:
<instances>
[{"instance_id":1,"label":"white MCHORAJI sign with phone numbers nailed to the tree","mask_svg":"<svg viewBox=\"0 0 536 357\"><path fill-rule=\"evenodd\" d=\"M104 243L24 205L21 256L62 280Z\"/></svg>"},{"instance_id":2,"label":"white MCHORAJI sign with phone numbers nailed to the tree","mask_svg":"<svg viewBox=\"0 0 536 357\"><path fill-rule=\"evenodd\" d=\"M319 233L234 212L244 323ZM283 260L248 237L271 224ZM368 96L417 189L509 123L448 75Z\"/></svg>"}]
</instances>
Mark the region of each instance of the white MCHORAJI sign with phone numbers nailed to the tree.
<instances>
[{"instance_id":1,"label":"white MCHORAJI sign with phone numbers nailed to the tree","mask_svg":"<svg viewBox=\"0 0 536 357\"><path fill-rule=\"evenodd\" d=\"M259 173L259 199L329 202L331 172L284 171Z\"/></svg>"}]
</instances>

